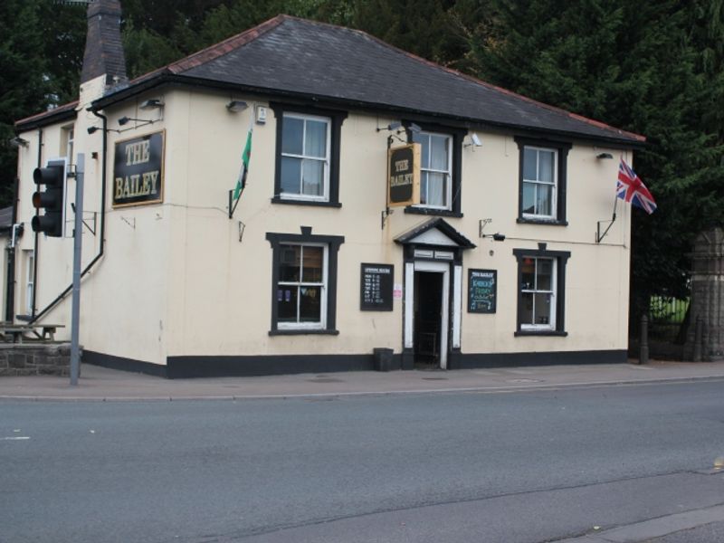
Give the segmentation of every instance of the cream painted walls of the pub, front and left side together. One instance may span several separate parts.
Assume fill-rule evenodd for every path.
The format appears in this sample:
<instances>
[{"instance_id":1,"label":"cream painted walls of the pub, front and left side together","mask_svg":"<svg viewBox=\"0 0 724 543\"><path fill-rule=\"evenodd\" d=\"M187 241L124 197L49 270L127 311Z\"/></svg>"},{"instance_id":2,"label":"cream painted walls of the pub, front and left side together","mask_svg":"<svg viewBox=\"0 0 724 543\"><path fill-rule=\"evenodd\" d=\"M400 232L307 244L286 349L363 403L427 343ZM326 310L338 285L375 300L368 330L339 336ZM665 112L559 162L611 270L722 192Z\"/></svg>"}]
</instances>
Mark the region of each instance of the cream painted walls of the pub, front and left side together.
<instances>
[{"instance_id":1,"label":"cream painted walls of the pub, front and left side together","mask_svg":"<svg viewBox=\"0 0 724 543\"><path fill-rule=\"evenodd\" d=\"M163 98L165 108L139 110L148 98ZM254 102L250 96L234 96ZM283 354L369 354L373 347L400 352L403 303L394 310L359 310L361 262L394 264L394 282L404 282L402 248L395 238L429 217L396 209L380 228L386 196L386 126L396 119L350 111L342 125L339 201L341 208L271 204L274 185L276 119L268 110L265 125L254 125L248 186L233 219L228 191L241 166L241 154L253 108L225 109L227 94L165 90L138 96L104 114L119 129L124 115L157 119L129 124L109 133L108 186L103 258L83 281L81 342L88 350L165 364L168 356ZM101 133L88 135L100 119L85 110L76 122L75 150L86 153L87 211L100 212ZM43 161L58 156L61 125L43 129ZM110 179L114 143L158 130L166 131L164 201L113 209ZM625 349L629 276L630 209L619 204L617 220L603 243L595 243L596 221L611 218L618 160L598 160L600 152L620 151L575 143L568 154L567 226L518 224L519 148L512 134L476 130L481 148L462 150L462 218L445 220L477 247L464 252L462 272L462 352L506 353ZM37 135L20 153L21 249L33 246L30 230L32 172ZM91 157L92 152L99 157ZM626 157L630 162L630 155ZM485 233L504 233L506 241L478 237L479 221L491 219ZM243 237L240 239L240 224ZM338 336L270 337L271 245L266 233L343 235L338 252ZM98 252L99 236L83 233L83 261ZM567 263L567 337L514 337L517 261L513 249L569 251ZM38 308L71 281L71 239L42 239ZM498 270L498 308L493 315L467 312L467 270ZM21 297L16 297L20 304ZM46 321L67 323L70 298ZM68 330L66 330L67 332Z\"/></svg>"}]
</instances>

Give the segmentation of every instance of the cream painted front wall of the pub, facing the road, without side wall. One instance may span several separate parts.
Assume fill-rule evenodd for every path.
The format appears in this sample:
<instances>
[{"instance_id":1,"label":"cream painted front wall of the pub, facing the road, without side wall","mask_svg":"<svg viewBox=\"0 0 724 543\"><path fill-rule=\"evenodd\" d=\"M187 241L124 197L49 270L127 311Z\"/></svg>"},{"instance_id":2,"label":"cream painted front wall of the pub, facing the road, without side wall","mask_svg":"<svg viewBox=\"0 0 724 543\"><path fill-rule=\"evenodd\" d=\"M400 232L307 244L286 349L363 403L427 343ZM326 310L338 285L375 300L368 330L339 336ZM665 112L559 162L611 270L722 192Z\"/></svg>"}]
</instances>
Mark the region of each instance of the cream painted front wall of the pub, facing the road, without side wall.
<instances>
[{"instance_id":1,"label":"cream painted front wall of the pub, facing the road, without side wall","mask_svg":"<svg viewBox=\"0 0 724 543\"><path fill-rule=\"evenodd\" d=\"M185 215L174 229L172 260L179 272L171 291L178 294L169 303L173 322L180 326L172 327L169 355L360 354L373 347L399 351L402 300L394 301L391 312L359 310L360 262L394 264L395 283L403 283L402 250L394 239L428 218L398 209L388 218L385 230L380 228L380 212L385 208L386 132L378 133L376 127L394 119L350 112L343 123L341 208L278 205L270 202L276 119L269 110L267 124L254 125L248 188L230 221L224 205L241 165L252 108L231 114L224 109L227 96L183 95L174 104L183 104L187 114L174 118L188 119L186 148L179 149L182 158L177 163L168 161L169 172L178 171L174 191L180 191L180 199L174 213ZM250 97L242 98L253 103ZM170 128L169 132L176 133ZM464 217L446 219L478 245L465 252L463 261L462 352L626 348L629 212L623 205L618 206L617 221L604 243L595 243L596 221L610 219L613 211L618 168L616 160L598 160L595 155L619 153L575 145L568 157L568 226L517 224L518 145L512 135L479 133L482 148L463 149ZM181 144L181 139L175 144ZM479 239L482 218L492 219L486 233L505 233L506 242ZM241 242L240 221L244 224ZM339 336L268 334L271 245L265 234L300 233L301 225L311 226L315 234L345 236L338 253ZM571 252L567 338L513 336L517 261L512 250L537 248L538 242L548 243L551 250ZM464 289L469 267L499 271L495 315L467 313Z\"/></svg>"}]
</instances>

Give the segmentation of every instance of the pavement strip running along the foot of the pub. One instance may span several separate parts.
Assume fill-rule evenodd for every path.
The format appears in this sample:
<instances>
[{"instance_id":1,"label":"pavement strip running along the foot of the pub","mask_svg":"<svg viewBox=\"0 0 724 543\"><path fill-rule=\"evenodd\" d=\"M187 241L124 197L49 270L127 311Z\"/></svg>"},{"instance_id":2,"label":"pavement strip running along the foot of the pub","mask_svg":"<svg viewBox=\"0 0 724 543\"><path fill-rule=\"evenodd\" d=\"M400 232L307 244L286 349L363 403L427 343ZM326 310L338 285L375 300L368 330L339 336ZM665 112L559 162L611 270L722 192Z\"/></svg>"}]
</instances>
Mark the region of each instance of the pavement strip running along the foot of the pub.
<instances>
[{"instance_id":1,"label":"pavement strip running along the foot of the pub","mask_svg":"<svg viewBox=\"0 0 724 543\"><path fill-rule=\"evenodd\" d=\"M646 365L580 364L484 369L357 371L284 376L164 379L83 364L78 385L69 377L0 377L0 399L50 401L169 401L304 396L510 392L568 386L669 383L724 378L724 361Z\"/></svg>"}]
</instances>

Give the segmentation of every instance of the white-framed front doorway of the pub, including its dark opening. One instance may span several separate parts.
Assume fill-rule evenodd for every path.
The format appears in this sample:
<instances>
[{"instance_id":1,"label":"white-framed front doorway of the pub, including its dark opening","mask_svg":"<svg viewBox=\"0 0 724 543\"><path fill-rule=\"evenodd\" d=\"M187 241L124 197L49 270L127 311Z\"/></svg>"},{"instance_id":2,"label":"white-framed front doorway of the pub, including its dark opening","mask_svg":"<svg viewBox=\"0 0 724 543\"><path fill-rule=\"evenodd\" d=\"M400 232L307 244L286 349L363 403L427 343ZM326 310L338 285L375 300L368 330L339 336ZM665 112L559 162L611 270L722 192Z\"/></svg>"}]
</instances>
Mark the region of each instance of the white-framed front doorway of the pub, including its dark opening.
<instances>
[{"instance_id":1,"label":"white-framed front doorway of the pub, including its dark opening","mask_svg":"<svg viewBox=\"0 0 724 543\"><path fill-rule=\"evenodd\" d=\"M415 364L447 368L450 322L450 264L406 264L405 347ZM408 328L409 327L409 328Z\"/></svg>"}]
</instances>

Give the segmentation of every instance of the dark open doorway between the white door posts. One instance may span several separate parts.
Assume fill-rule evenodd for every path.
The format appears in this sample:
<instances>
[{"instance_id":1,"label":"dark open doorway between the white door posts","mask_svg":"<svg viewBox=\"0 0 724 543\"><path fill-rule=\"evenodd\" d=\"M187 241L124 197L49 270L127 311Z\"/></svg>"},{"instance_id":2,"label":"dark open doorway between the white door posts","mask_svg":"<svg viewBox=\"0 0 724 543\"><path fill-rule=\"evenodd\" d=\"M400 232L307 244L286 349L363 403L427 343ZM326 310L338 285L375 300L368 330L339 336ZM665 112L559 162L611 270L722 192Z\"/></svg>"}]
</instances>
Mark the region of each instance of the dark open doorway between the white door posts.
<instances>
[{"instance_id":1,"label":"dark open doorway between the white door posts","mask_svg":"<svg viewBox=\"0 0 724 543\"><path fill-rule=\"evenodd\" d=\"M441 367L443 334L443 279L438 271L414 272L414 365Z\"/></svg>"}]
</instances>

